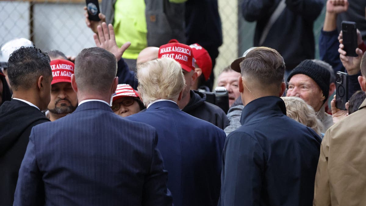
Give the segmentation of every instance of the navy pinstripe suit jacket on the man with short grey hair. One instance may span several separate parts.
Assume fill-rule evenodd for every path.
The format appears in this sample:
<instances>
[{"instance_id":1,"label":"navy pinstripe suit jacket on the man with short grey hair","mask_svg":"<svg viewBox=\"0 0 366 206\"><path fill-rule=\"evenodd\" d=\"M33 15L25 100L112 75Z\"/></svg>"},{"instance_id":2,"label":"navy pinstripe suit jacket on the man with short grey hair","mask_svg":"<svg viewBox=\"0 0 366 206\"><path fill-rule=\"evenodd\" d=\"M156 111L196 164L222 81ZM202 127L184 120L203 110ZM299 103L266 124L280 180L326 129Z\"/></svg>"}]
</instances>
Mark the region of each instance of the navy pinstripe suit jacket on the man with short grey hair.
<instances>
[{"instance_id":1,"label":"navy pinstripe suit jacket on the man with short grey hair","mask_svg":"<svg viewBox=\"0 0 366 206\"><path fill-rule=\"evenodd\" d=\"M156 145L152 126L85 102L32 129L14 205L172 205Z\"/></svg>"}]
</instances>

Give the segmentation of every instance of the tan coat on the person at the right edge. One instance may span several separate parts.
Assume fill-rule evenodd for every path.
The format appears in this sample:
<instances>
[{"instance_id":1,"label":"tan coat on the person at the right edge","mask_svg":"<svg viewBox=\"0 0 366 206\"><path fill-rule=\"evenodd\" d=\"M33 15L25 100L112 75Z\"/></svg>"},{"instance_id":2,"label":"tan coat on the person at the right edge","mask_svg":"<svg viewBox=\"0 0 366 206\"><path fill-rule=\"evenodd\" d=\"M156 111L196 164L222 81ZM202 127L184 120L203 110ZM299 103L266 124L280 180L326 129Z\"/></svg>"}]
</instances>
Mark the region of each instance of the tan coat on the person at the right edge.
<instances>
[{"instance_id":1,"label":"tan coat on the person at the right edge","mask_svg":"<svg viewBox=\"0 0 366 206\"><path fill-rule=\"evenodd\" d=\"M366 206L366 100L326 131L313 205Z\"/></svg>"}]
</instances>

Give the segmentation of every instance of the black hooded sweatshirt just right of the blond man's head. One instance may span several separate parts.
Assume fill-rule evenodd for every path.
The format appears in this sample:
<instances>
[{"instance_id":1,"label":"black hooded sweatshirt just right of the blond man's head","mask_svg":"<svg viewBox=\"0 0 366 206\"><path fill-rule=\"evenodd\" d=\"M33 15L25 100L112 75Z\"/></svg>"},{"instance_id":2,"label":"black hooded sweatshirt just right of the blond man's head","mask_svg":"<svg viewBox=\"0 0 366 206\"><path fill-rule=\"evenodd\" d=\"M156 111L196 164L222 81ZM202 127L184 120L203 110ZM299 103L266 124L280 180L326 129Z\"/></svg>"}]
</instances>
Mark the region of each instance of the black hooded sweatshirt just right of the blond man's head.
<instances>
[{"instance_id":1,"label":"black hooded sweatshirt just right of the blond man's head","mask_svg":"<svg viewBox=\"0 0 366 206\"><path fill-rule=\"evenodd\" d=\"M221 129L225 129L225 127L229 125L228 118L220 107L205 102L205 94L191 90L190 95L191 100L182 111L192 115L193 117L211 122Z\"/></svg>"}]
</instances>

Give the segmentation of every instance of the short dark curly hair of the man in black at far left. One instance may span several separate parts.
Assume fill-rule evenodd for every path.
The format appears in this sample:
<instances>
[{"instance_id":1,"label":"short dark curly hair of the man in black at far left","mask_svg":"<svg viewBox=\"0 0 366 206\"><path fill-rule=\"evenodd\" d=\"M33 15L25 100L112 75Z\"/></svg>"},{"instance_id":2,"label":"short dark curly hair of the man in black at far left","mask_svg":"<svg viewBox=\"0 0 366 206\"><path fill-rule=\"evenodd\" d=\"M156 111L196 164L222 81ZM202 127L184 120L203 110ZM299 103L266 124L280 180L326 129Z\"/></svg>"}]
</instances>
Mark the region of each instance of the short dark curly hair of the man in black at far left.
<instances>
[{"instance_id":1,"label":"short dark curly hair of the man in black at far left","mask_svg":"<svg viewBox=\"0 0 366 206\"><path fill-rule=\"evenodd\" d=\"M12 89L30 88L40 76L52 76L49 56L37 47L20 47L8 60L8 78Z\"/></svg>"}]
</instances>

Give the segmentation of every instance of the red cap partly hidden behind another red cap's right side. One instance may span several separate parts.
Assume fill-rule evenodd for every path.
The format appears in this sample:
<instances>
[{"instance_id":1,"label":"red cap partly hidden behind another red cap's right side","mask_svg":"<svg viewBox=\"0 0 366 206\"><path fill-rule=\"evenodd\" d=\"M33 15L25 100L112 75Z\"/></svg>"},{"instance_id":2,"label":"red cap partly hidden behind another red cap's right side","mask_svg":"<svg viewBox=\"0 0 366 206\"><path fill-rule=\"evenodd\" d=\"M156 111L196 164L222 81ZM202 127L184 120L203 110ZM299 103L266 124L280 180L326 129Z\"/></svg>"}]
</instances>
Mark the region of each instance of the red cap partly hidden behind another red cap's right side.
<instances>
[{"instance_id":1,"label":"red cap partly hidden behind another red cap's right side","mask_svg":"<svg viewBox=\"0 0 366 206\"><path fill-rule=\"evenodd\" d=\"M203 48L199 44L191 44L189 45L193 51L193 57L196 60L197 65L199 68L202 69L202 74L205 76L206 81L211 75L212 72L212 60L208 51Z\"/></svg>"}]
</instances>

